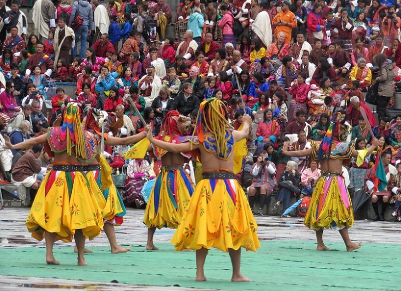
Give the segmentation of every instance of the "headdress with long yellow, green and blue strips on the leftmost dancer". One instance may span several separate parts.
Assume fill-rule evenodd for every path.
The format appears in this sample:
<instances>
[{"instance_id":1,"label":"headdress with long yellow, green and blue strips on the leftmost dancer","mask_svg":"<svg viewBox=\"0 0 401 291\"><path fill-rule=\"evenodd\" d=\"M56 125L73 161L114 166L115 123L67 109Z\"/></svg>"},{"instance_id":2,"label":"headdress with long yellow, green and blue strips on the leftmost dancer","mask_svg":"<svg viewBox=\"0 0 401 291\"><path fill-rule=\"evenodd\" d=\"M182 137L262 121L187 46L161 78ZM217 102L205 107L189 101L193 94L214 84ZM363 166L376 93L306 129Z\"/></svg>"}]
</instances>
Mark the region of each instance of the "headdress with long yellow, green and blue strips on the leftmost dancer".
<instances>
[{"instance_id":1,"label":"headdress with long yellow, green and blue strips on the leftmost dancer","mask_svg":"<svg viewBox=\"0 0 401 291\"><path fill-rule=\"evenodd\" d=\"M87 158L85 152L84 133L81 126L81 115L78 102L70 102L64 111L62 130L66 134L67 154L71 156L74 146L75 157L81 160Z\"/></svg>"}]
</instances>

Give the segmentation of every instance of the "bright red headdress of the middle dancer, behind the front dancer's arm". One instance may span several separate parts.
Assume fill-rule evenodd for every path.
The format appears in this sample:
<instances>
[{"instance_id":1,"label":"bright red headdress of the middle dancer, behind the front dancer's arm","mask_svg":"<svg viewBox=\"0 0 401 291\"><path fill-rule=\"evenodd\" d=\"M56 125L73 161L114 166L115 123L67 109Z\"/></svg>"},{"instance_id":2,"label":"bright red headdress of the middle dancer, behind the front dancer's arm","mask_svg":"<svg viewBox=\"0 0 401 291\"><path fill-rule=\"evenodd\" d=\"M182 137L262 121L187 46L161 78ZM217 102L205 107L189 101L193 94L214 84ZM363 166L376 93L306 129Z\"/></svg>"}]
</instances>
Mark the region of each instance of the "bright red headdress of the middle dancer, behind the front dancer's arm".
<instances>
[{"instance_id":1,"label":"bright red headdress of the middle dancer, behind the front dancer's arm","mask_svg":"<svg viewBox=\"0 0 401 291\"><path fill-rule=\"evenodd\" d=\"M163 118L163 123L161 124L157 137L162 138L165 135L170 137L174 135L184 135L188 131L190 124L190 119L179 114L177 110L168 111Z\"/></svg>"}]
</instances>

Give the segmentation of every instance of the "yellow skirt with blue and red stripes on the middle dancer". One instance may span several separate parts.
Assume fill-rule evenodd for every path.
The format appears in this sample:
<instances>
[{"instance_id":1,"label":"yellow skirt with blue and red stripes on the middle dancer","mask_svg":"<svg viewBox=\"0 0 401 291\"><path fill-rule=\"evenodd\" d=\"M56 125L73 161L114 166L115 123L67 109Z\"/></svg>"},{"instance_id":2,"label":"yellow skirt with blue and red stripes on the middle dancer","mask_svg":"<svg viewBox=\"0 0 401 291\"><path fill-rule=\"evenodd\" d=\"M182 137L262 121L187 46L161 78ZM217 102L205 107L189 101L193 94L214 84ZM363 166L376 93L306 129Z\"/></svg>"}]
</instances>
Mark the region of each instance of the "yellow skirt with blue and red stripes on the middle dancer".
<instances>
[{"instance_id":1,"label":"yellow skirt with blue and red stripes on the middle dancer","mask_svg":"<svg viewBox=\"0 0 401 291\"><path fill-rule=\"evenodd\" d=\"M184 170L161 168L146 205L143 223L148 228L177 228L193 193L193 184Z\"/></svg>"}]
</instances>

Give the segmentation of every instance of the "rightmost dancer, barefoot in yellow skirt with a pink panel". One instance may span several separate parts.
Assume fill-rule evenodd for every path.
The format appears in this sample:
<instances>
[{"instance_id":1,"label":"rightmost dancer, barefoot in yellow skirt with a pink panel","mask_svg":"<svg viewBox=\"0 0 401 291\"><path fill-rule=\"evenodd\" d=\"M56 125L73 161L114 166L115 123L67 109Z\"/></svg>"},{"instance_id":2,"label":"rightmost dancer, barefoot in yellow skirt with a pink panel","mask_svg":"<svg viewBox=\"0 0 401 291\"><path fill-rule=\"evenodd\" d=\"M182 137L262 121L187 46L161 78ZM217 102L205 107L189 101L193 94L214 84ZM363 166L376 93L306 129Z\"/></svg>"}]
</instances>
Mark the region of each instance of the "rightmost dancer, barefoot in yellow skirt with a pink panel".
<instances>
[{"instance_id":1,"label":"rightmost dancer, barefoot in yellow skirt with a pink panel","mask_svg":"<svg viewBox=\"0 0 401 291\"><path fill-rule=\"evenodd\" d=\"M309 150L289 152L289 142L286 141L283 154L289 157L311 156L320 162L322 175L313 191L304 220L307 227L316 231L316 249L329 250L323 242L323 229L333 228L339 230L347 251L353 251L360 248L362 242L353 243L348 235L348 228L352 226L354 218L351 199L341 175L342 164L351 157L357 158L357 164L362 164L378 143L377 139L373 139L368 150L354 150L354 144L345 141L350 130L350 126L344 124L345 112L337 112L335 118L322 142L312 141Z\"/></svg>"}]
</instances>

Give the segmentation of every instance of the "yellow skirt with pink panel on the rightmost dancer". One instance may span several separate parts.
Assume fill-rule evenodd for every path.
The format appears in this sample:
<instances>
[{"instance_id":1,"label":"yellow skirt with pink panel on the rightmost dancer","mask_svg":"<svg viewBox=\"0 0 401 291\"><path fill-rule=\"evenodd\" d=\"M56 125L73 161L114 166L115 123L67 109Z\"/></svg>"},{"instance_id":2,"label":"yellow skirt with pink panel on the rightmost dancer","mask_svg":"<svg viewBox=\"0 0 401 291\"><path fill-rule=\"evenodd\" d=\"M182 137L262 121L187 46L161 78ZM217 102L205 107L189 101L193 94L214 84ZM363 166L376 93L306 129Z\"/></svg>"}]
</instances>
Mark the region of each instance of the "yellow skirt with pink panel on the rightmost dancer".
<instances>
[{"instance_id":1,"label":"yellow skirt with pink panel on the rightmost dancer","mask_svg":"<svg viewBox=\"0 0 401 291\"><path fill-rule=\"evenodd\" d=\"M354 223L352 203L341 176L320 177L312 194L304 224L314 230L342 229Z\"/></svg>"}]
</instances>

